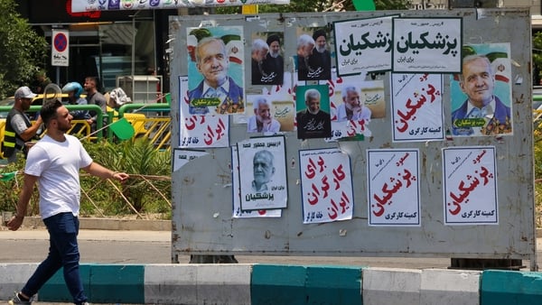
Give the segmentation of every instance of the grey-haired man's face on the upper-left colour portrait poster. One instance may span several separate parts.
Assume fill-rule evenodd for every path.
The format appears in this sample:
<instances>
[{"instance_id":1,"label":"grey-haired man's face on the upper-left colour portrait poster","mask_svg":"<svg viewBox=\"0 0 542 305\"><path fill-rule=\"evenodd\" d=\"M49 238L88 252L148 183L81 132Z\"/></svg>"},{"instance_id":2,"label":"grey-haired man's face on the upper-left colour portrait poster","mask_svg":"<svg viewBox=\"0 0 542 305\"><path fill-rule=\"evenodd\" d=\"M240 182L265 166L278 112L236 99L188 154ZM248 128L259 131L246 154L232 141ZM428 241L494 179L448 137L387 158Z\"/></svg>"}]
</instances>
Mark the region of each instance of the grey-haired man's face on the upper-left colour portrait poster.
<instances>
[{"instance_id":1,"label":"grey-haired man's face on the upper-left colour portrait poster","mask_svg":"<svg viewBox=\"0 0 542 305\"><path fill-rule=\"evenodd\" d=\"M208 84L217 88L228 79L228 54L219 41L207 42L197 49L196 67Z\"/></svg>"}]
</instances>

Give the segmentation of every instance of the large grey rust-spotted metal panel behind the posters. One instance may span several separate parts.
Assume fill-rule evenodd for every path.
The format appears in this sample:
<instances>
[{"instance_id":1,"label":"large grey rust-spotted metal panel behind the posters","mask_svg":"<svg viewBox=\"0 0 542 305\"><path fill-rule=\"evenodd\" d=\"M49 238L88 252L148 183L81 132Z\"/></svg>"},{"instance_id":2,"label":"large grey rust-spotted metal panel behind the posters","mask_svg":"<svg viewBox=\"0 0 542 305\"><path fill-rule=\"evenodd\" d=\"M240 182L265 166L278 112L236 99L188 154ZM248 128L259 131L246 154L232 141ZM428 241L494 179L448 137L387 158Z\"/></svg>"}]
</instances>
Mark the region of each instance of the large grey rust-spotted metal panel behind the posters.
<instances>
[{"instance_id":1,"label":"large grey rust-spotted metal panel behind the posters","mask_svg":"<svg viewBox=\"0 0 542 305\"><path fill-rule=\"evenodd\" d=\"M512 58L513 136L462 137L441 142L394 143L390 116L370 122L373 136L360 142L300 141L285 133L288 207L279 218L232 218L230 149L208 155L173 171L173 256L175 254L277 254L344 256L421 256L530 259L535 261L534 170L531 113L531 32L528 9L474 9L342 12L322 14L207 15L170 17L173 147L179 146L179 81L187 73L186 27L242 25L251 32L285 32L285 54L295 53L296 26L322 26L401 14L406 17L463 18L463 43L509 42ZM247 39L247 38L246 38ZM250 60L249 39L245 61ZM293 61L285 59L285 69ZM249 84L249 74L245 74ZM389 78L384 76L389 103ZM444 77L444 117L450 117L450 82ZM257 94L246 86L247 94ZM387 106L389 109L389 107ZM444 120L450 127L450 120ZM229 144L247 139L246 125L229 119ZM500 221L495 226L444 226L442 148L494 146L497 159ZM299 150L340 147L349 152L356 207L351 220L324 224L302 222ZM421 226L368 226L366 150L414 148L420 152Z\"/></svg>"}]
</instances>

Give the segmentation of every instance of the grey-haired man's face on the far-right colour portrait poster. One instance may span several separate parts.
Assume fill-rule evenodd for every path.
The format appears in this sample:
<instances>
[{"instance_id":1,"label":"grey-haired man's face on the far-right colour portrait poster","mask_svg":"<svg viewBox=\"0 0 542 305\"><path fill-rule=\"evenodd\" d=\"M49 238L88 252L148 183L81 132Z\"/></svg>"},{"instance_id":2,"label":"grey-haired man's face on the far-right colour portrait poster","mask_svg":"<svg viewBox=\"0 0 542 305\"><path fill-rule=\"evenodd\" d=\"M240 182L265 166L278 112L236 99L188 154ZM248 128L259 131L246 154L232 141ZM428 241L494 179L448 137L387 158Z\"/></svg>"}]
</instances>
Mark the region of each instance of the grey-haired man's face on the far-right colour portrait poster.
<instances>
[{"instance_id":1,"label":"grey-haired man's face on the far-right colour portrait poster","mask_svg":"<svg viewBox=\"0 0 542 305\"><path fill-rule=\"evenodd\" d=\"M469 97L473 106L486 106L493 97L495 78L490 63L483 58L463 64L463 81L460 82L463 92Z\"/></svg>"}]
</instances>

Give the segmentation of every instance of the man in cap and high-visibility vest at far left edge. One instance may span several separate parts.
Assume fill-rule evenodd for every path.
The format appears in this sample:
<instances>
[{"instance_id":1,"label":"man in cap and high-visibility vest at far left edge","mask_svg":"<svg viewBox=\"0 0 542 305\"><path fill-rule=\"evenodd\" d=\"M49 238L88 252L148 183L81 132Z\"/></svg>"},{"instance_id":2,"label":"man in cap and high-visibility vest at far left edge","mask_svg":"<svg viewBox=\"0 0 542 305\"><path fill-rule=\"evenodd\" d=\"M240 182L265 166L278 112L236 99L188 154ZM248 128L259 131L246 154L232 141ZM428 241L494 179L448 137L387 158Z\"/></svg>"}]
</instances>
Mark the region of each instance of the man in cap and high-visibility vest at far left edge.
<instances>
[{"instance_id":1,"label":"man in cap and high-visibility vest at far left edge","mask_svg":"<svg viewBox=\"0 0 542 305\"><path fill-rule=\"evenodd\" d=\"M2 152L7 162L17 162L17 152L26 153L24 143L33 139L38 134L42 125L42 117L38 116L34 124L24 112L32 105L36 94L28 87L21 87L15 91L14 106L5 119L4 142L2 143Z\"/></svg>"}]
</instances>

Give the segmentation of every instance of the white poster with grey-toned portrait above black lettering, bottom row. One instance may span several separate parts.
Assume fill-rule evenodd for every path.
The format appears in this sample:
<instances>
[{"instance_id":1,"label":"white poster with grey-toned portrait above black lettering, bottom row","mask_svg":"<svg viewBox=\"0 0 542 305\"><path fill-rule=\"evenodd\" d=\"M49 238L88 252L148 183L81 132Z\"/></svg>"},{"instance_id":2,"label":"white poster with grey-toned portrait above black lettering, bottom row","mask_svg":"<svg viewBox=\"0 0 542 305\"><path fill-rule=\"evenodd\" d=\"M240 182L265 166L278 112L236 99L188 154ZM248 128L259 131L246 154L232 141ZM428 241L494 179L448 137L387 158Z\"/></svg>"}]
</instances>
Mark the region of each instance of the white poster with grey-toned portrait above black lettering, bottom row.
<instances>
[{"instance_id":1,"label":"white poster with grey-toned portrait above black lettering, bottom row","mask_svg":"<svg viewBox=\"0 0 542 305\"><path fill-rule=\"evenodd\" d=\"M241 210L286 208L285 137L250 138L237 146Z\"/></svg>"}]
</instances>

